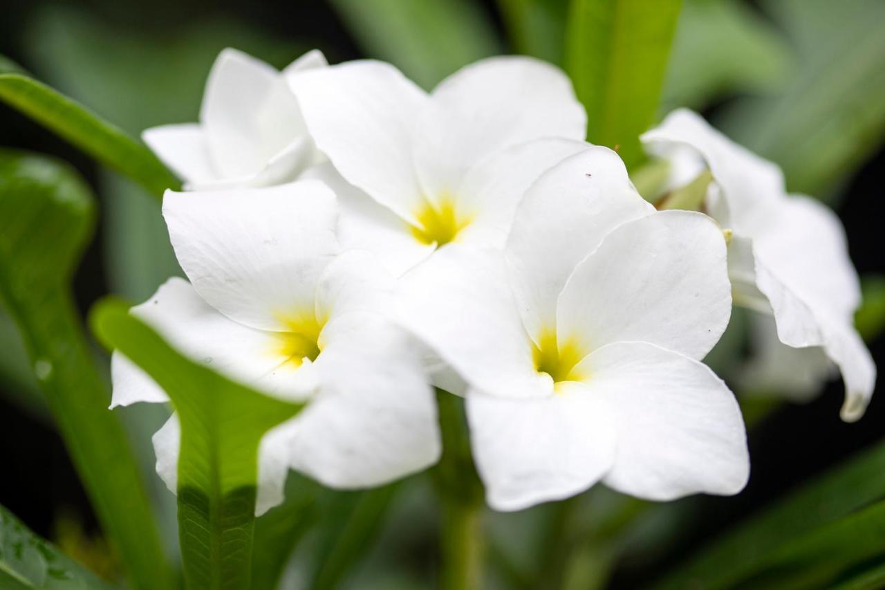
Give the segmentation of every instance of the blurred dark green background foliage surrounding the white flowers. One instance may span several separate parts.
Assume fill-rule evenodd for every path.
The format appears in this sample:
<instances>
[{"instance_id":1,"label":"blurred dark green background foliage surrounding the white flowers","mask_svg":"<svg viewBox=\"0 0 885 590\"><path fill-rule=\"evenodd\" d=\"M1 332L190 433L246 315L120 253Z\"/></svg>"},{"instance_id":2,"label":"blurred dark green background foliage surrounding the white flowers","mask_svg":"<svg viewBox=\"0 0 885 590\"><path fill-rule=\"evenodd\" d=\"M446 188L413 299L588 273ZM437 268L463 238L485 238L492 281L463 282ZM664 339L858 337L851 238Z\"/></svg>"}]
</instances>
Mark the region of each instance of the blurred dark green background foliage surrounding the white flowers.
<instances>
[{"instance_id":1,"label":"blurred dark green background foliage surrounding the white flowers","mask_svg":"<svg viewBox=\"0 0 885 590\"><path fill-rule=\"evenodd\" d=\"M227 46L274 66L312 47L333 63L382 58L430 89L458 67L500 52L569 66L569 10L566 0L6 0L0 54L137 136L153 125L196 120L206 74ZM658 119L681 105L701 111L778 162L790 190L835 206L863 277L858 329L881 367L883 25L881 0L683 0L657 111ZM141 301L181 274L156 196L5 107L0 144L71 162L98 196L96 237L73 277L81 314L105 293ZM708 359L733 386L741 382L745 321L735 314ZM95 354L106 367L104 353ZM115 578L116 557L34 369L13 322L0 312L0 445L7 464L0 505L96 573ZM838 419L837 382L804 405L747 398L753 473L734 498L649 505L597 486L570 501L489 513L487 586L881 587L883 395L873 396L857 424ZM114 412L150 483L166 553L176 555L174 498L154 474L150 446L167 410L142 404ZM427 479L340 493L290 474L287 502L256 524L255 586L271 587L279 577L287 588L426 587L439 567L439 522ZM0 516L14 520L5 511ZM13 537L0 532L0 560L19 539ZM45 571L55 559L68 563L64 555L45 557Z\"/></svg>"}]
</instances>

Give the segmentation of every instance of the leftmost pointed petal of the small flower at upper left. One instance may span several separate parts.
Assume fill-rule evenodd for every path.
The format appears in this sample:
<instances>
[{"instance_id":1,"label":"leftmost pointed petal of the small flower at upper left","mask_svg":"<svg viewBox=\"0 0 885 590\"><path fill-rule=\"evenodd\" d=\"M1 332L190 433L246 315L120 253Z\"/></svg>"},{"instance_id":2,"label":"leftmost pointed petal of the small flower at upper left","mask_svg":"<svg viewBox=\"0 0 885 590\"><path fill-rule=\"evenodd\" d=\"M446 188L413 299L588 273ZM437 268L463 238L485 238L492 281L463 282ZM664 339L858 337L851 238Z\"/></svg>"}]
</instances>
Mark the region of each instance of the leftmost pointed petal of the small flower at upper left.
<instances>
[{"instance_id":1,"label":"leftmost pointed petal of the small flower at upper left","mask_svg":"<svg viewBox=\"0 0 885 590\"><path fill-rule=\"evenodd\" d=\"M142 139L181 180L199 184L218 179L203 128L196 123L150 128L142 133Z\"/></svg>"}]
</instances>

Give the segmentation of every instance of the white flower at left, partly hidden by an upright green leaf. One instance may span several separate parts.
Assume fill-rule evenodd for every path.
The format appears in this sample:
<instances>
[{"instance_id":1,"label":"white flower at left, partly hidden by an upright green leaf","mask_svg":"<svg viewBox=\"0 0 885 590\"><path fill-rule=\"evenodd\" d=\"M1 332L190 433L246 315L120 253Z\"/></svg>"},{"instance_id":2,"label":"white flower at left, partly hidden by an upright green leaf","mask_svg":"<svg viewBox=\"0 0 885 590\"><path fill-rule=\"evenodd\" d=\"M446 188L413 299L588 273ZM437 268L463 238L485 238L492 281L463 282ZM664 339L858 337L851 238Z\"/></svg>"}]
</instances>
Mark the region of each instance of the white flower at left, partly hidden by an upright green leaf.
<instances>
[{"instance_id":1,"label":"white flower at left, partly hidden by an upright green leaf","mask_svg":"<svg viewBox=\"0 0 885 590\"><path fill-rule=\"evenodd\" d=\"M435 399L411 338L386 317L395 279L367 252L343 252L335 195L317 181L243 191L167 191L181 268L134 312L196 361L287 400L309 400L262 440L260 514L289 468L326 485L380 485L434 463ZM119 354L112 406L167 400ZM155 435L175 489L179 431Z\"/></svg>"}]
</instances>

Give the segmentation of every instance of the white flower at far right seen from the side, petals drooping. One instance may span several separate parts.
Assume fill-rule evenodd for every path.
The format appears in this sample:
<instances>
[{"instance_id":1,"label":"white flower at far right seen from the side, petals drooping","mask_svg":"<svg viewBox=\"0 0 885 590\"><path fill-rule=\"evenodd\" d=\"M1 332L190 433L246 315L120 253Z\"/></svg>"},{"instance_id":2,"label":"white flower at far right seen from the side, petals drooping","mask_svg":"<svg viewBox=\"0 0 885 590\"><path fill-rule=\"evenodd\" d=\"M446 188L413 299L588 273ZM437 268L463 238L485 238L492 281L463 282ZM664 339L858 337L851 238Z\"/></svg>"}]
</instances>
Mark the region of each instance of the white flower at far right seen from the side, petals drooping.
<instances>
[{"instance_id":1,"label":"white flower at far right seen from the side, petals drooping","mask_svg":"<svg viewBox=\"0 0 885 590\"><path fill-rule=\"evenodd\" d=\"M643 142L665 157L688 146L700 166L709 167L714 182L706 208L735 236L728 255L735 303L773 315L780 341L808 349L812 360L822 348L845 382L842 418L858 420L873 394L876 368L854 329L860 287L835 213L813 198L788 195L779 167L696 113L670 113Z\"/></svg>"}]
</instances>

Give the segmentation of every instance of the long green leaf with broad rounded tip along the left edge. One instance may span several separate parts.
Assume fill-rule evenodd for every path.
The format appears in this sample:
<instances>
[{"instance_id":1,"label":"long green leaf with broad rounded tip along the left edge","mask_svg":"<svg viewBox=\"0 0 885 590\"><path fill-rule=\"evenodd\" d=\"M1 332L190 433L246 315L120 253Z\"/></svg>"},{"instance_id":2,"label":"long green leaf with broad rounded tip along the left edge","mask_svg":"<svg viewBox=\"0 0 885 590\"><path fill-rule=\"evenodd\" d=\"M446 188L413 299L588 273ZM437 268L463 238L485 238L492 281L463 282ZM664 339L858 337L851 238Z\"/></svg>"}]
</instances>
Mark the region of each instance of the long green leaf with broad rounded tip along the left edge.
<instances>
[{"instance_id":1,"label":"long green leaf with broad rounded tip along the left edge","mask_svg":"<svg viewBox=\"0 0 885 590\"><path fill-rule=\"evenodd\" d=\"M0 151L0 300L133 586L165 589L173 578L150 503L69 287L94 223L89 189L73 170Z\"/></svg>"}]
</instances>

